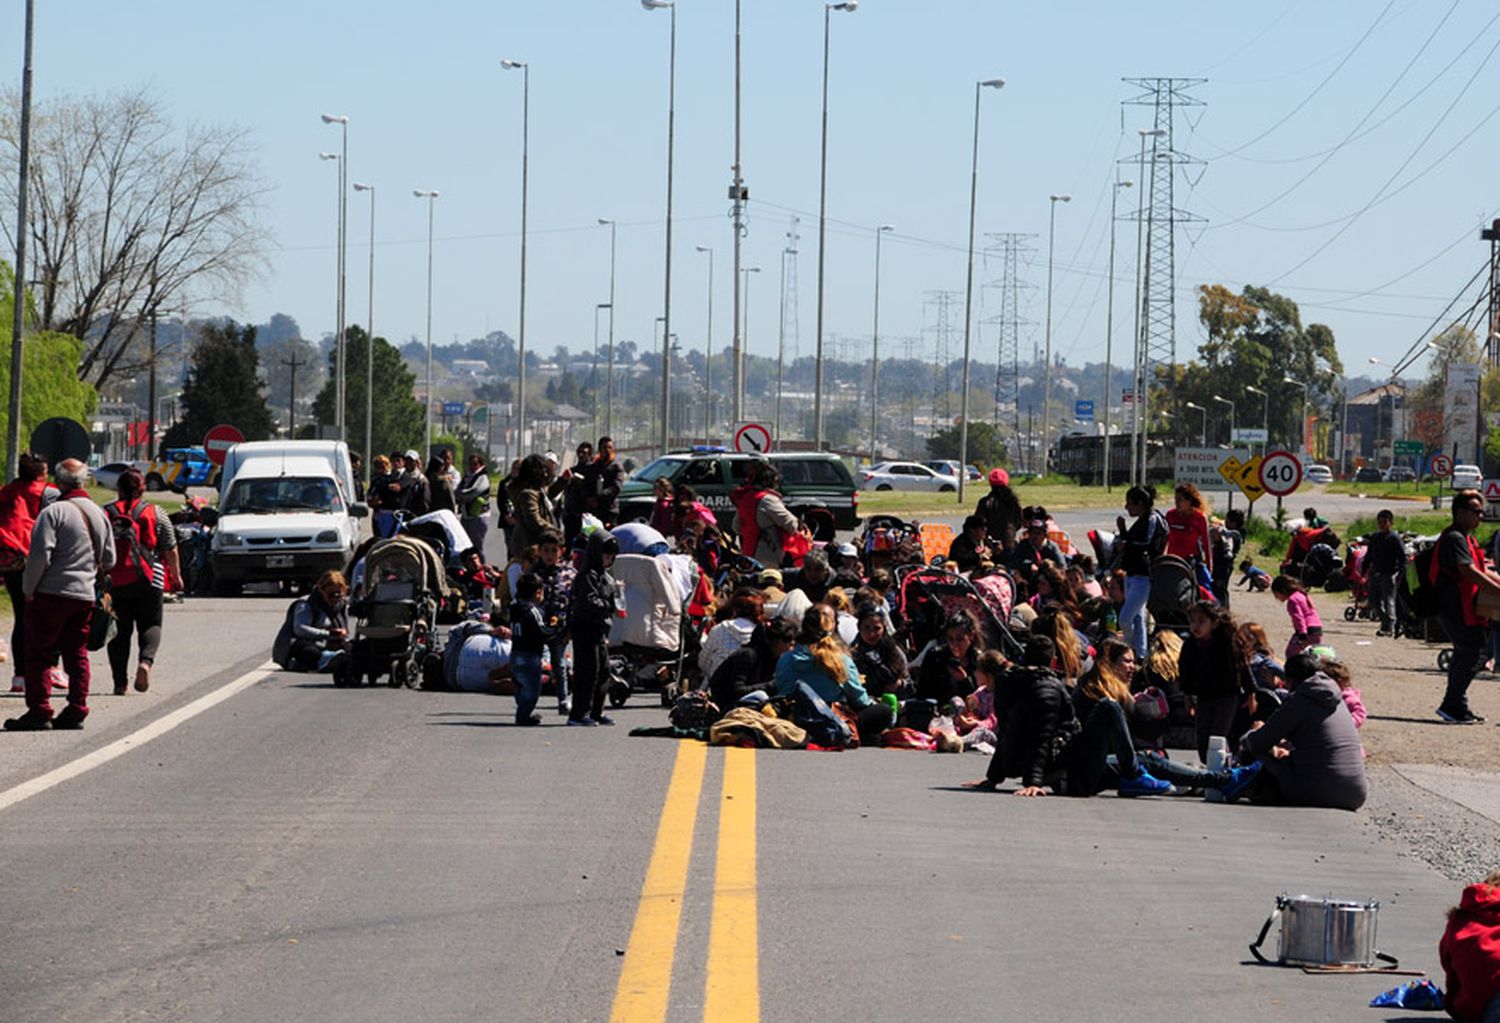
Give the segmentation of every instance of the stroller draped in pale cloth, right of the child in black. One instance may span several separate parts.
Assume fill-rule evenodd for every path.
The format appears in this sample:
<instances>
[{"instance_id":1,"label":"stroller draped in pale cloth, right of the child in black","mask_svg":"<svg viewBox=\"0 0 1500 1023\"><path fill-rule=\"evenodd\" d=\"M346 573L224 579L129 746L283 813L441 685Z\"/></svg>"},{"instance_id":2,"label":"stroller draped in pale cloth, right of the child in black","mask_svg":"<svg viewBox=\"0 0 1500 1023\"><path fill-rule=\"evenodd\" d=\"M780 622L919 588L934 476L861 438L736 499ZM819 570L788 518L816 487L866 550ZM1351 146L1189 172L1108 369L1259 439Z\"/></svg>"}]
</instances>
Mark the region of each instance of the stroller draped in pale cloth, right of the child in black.
<instances>
[{"instance_id":1,"label":"stroller draped in pale cloth, right of the child in black","mask_svg":"<svg viewBox=\"0 0 1500 1023\"><path fill-rule=\"evenodd\" d=\"M632 693L657 690L662 706L670 706L698 663L678 580L663 558L644 554L620 555L609 572L626 594L624 616L609 626L609 705L624 706Z\"/></svg>"}]
</instances>

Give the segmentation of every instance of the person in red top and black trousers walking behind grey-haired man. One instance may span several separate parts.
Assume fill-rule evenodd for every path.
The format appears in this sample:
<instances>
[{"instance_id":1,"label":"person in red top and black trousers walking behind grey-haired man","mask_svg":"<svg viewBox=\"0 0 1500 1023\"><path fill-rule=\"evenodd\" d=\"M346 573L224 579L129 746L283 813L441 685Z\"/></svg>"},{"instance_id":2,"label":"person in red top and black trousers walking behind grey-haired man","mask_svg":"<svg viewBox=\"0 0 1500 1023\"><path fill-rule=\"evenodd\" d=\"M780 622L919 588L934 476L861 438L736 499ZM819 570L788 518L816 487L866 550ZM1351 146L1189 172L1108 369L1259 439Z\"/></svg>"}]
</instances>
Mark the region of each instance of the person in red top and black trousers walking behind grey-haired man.
<instances>
[{"instance_id":1,"label":"person in red top and black trousers walking behind grey-haired man","mask_svg":"<svg viewBox=\"0 0 1500 1023\"><path fill-rule=\"evenodd\" d=\"M152 664L162 642L162 591L177 585L177 532L160 507L146 501L146 477L126 470L116 484L118 501L105 506L114 532L114 567L110 568L110 598L120 630L110 640L110 674L114 694L129 688L130 632L136 633L135 692L152 686Z\"/></svg>"}]
</instances>

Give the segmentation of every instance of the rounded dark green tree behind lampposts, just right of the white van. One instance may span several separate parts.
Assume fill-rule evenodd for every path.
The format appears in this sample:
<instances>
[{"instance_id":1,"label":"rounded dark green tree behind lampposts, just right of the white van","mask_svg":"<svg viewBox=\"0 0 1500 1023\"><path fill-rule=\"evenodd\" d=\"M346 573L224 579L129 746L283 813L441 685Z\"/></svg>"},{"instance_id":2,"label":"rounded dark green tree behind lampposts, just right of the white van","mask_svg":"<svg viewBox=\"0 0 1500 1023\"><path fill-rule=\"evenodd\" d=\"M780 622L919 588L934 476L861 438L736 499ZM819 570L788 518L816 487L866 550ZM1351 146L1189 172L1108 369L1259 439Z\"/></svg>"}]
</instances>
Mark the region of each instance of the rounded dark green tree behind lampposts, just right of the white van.
<instances>
[{"instance_id":1,"label":"rounded dark green tree behind lampposts, just right of the white van","mask_svg":"<svg viewBox=\"0 0 1500 1023\"><path fill-rule=\"evenodd\" d=\"M344 392L344 416L348 426L350 447L364 446L364 376L369 351L369 334L360 327L345 330L344 356L348 360ZM334 363L338 352L328 352L328 381L312 402L316 422L332 426L334 422ZM408 447L422 448L426 444L426 423L422 402L414 398L417 378L402 362L400 352L384 338L375 339L375 416L370 423L372 444L376 452L396 452Z\"/></svg>"}]
</instances>

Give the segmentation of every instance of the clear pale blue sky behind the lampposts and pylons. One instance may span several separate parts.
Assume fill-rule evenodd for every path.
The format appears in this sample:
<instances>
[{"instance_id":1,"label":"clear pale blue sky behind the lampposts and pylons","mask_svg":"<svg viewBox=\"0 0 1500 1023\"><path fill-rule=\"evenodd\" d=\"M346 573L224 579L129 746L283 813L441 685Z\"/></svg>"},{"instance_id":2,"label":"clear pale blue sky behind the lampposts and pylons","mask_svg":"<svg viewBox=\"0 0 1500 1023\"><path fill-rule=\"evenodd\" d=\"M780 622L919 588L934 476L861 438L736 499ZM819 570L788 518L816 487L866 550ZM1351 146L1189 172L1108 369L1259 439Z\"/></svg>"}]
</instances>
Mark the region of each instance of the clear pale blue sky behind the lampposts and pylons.
<instances>
[{"instance_id":1,"label":"clear pale blue sky behind the lampposts and pylons","mask_svg":"<svg viewBox=\"0 0 1500 1023\"><path fill-rule=\"evenodd\" d=\"M272 186L272 273L238 306L196 312L279 310L308 336L332 330L336 182L318 152L336 148L338 130L318 116L336 112L351 118L351 177L378 189L376 332L423 333L426 208L411 189L430 188L442 192L435 339L514 334L520 76L498 64L514 57L531 63L528 345L592 344L609 268L597 218L621 225L616 336L650 338L662 306L666 12L638 0L38 8L39 99L147 86L180 122L252 132ZM18 80L22 3L0 12L16 28L3 34ZM1024 273L1040 321L1047 196L1072 194L1058 210L1054 346L1071 363L1101 360L1110 180L1149 116L1122 114L1136 90L1120 78L1204 76L1206 106L1179 118L1176 138L1206 160L1178 189L1178 204L1206 218L1178 240L1180 356L1200 334L1192 286L1269 284L1334 327L1350 369L1370 370L1366 356L1406 351L1485 258L1478 231L1500 213L1486 176L1500 136L1486 120L1500 96L1496 18L1478 0L864 0L834 14L826 332L867 356L878 224L897 228L884 250L886 352L930 326L926 292L963 290L974 82L1004 76L984 96L980 231L1038 236ZM820 46L822 3L746 2L744 260L764 267L750 296L758 352L774 351L794 212L801 351L813 346ZM694 244L716 249L716 346L730 336L732 87L734 3L680 0L672 316L684 346L700 346L706 324ZM1134 196L1124 192L1122 206ZM364 320L366 202L350 196L351 322ZM1134 226L1119 238L1118 328ZM993 357L993 330L976 344ZM1118 364L1125 346L1118 333Z\"/></svg>"}]
</instances>

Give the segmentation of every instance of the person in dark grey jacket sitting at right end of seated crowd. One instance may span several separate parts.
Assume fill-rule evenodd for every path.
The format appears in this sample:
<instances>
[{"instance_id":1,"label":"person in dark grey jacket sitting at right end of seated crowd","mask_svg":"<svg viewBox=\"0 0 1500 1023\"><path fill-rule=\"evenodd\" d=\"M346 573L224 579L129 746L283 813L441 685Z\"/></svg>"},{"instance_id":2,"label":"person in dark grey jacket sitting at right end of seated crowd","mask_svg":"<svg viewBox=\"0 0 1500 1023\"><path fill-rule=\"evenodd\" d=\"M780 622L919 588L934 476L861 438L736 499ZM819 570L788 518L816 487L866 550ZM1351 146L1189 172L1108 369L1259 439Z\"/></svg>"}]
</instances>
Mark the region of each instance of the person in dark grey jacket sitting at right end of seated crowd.
<instances>
[{"instance_id":1,"label":"person in dark grey jacket sitting at right end of seated crowd","mask_svg":"<svg viewBox=\"0 0 1500 1023\"><path fill-rule=\"evenodd\" d=\"M1338 684L1312 654L1287 660L1292 694L1239 742L1264 770L1251 800L1284 806L1358 810L1370 795L1354 718Z\"/></svg>"}]
</instances>

